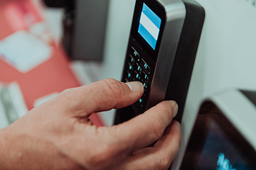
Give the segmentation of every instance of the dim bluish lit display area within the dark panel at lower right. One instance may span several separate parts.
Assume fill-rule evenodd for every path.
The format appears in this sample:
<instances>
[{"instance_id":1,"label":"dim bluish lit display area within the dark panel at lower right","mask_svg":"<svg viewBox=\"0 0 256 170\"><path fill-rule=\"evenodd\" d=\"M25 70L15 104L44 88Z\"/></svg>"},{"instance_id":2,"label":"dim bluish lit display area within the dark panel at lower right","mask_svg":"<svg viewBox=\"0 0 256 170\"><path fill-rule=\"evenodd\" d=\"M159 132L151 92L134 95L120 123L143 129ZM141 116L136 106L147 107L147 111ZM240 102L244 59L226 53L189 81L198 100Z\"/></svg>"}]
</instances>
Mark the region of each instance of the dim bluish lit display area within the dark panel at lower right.
<instances>
[{"instance_id":1,"label":"dim bluish lit display area within the dark panel at lower right","mask_svg":"<svg viewBox=\"0 0 256 170\"><path fill-rule=\"evenodd\" d=\"M239 139L235 141L239 143ZM254 166L240 152L233 140L214 122L211 123L206 142L198 159L198 169L252 170Z\"/></svg>"}]
</instances>

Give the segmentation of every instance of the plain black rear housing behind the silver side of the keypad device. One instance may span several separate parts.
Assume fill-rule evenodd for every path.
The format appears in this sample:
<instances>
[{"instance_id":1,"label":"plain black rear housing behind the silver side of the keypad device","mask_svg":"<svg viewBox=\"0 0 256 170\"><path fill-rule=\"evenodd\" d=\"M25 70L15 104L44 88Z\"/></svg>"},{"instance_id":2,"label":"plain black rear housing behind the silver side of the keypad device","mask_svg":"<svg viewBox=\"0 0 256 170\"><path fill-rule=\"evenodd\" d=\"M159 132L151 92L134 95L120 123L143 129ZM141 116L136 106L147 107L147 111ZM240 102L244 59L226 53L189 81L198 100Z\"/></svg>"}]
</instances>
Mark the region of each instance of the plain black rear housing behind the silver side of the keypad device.
<instances>
[{"instance_id":1,"label":"plain black rear housing behind the silver side of the keypad device","mask_svg":"<svg viewBox=\"0 0 256 170\"><path fill-rule=\"evenodd\" d=\"M165 101L174 100L178 103L178 113L174 119L179 122L182 119L205 19L203 6L193 0L183 0L183 3L186 6L186 18L164 99Z\"/></svg>"}]
</instances>

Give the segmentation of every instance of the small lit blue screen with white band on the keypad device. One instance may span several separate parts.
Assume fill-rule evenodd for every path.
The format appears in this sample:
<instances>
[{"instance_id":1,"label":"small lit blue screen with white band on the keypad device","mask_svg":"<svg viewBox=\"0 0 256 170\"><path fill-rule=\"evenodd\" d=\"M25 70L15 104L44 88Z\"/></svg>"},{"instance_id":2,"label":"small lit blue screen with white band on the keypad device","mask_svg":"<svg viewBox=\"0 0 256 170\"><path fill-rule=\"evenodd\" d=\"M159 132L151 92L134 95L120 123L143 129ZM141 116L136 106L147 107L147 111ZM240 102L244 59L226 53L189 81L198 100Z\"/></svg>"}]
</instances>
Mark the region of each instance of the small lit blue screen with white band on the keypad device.
<instances>
[{"instance_id":1,"label":"small lit blue screen with white band on the keypad device","mask_svg":"<svg viewBox=\"0 0 256 170\"><path fill-rule=\"evenodd\" d=\"M143 4L142 14L139 19L138 33L153 48L156 49L156 42L159 38L161 18L154 13L149 6Z\"/></svg>"}]
</instances>

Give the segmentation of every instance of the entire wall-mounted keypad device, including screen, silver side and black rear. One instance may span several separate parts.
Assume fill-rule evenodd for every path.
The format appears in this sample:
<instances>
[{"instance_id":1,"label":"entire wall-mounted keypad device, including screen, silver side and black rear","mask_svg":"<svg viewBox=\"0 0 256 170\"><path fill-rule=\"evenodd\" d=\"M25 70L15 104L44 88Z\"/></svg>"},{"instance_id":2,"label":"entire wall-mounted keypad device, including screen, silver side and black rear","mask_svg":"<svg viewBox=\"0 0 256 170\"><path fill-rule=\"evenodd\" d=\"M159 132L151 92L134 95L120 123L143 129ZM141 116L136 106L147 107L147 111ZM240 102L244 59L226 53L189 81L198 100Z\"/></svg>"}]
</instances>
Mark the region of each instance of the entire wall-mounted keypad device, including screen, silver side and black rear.
<instances>
[{"instance_id":1,"label":"entire wall-mounted keypad device, including screen, silver side and black rear","mask_svg":"<svg viewBox=\"0 0 256 170\"><path fill-rule=\"evenodd\" d=\"M117 110L115 124L144 113L164 98L175 100L166 96L166 91L172 93L169 84L179 86L177 83L181 83L176 79L177 74L186 81L176 92L187 94L204 20L204 10L201 6L198 10L198 6L195 1L136 1L122 81L141 81L144 95L132 106ZM195 15L199 17L193 22L191 18ZM183 50L190 53L186 56ZM177 82L169 82L172 72L176 72L174 80ZM181 105L184 105L186 95L182 100Z\"/></svg>"}]
</instances>

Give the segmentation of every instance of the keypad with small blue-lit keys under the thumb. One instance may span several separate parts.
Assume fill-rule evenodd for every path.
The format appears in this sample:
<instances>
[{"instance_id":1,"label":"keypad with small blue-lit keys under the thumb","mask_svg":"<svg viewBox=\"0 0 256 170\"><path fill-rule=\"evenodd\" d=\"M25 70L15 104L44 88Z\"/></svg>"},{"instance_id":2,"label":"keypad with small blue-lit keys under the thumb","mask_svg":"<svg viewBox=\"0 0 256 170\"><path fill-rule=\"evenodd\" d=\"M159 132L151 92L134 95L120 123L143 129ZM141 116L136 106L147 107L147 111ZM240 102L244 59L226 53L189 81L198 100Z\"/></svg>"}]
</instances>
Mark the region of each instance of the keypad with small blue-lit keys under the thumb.
<instances>
[{"instance_id":1,"label":"keypad with small blue-lit keys under the thumb","mask_svg":"<svg viewBox=\"0 0 256 170\"><path fill-rule=\"evenodd\" d=\"M125 81L141 81L144 86L144 91L148 91L149 89L149 74L150 67L139 55L139 52L131 47L129 50L129 63L127 65L127 77ZM144 106L145 94L142 98L139 98L139 106Z\"/></svg>"}]
</instances>

